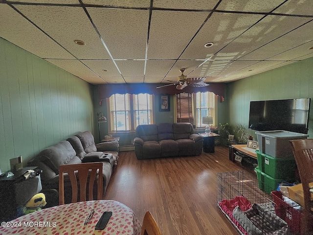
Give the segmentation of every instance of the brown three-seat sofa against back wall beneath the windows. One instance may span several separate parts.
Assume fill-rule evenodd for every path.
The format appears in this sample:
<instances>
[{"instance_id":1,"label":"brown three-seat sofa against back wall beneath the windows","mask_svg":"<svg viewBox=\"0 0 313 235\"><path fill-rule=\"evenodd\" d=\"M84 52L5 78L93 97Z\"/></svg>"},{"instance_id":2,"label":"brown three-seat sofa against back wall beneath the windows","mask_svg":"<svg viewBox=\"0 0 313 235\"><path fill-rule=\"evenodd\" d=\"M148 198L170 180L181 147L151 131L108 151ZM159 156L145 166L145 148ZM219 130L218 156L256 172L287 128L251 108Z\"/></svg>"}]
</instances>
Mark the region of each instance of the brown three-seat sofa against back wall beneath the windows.
<instances>
[{"instance_id":1,"label":"brown three-seat sofa against back wall beneath the windows","mask_svg":"<svg viewBox=\"0 0 313 235\"><path fill-rule=\"evenodd\" d=\"M199 156L203 137L194 134L191 123L138 125L134 146L137 159Z\"/></svg>"}]
</instances>

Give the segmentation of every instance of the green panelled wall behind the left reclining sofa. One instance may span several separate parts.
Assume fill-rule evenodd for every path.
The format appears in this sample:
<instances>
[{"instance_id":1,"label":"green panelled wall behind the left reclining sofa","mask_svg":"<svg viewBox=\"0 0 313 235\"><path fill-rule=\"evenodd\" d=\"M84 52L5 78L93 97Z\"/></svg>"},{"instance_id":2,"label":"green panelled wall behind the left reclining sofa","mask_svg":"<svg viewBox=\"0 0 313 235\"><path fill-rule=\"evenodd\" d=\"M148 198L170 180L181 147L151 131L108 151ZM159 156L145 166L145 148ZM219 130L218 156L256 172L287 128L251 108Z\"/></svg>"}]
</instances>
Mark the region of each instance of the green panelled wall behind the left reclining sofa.
<instances>
[{"instance_id":1,"label":"green panelled wall behind the left reclining sofa","mask_svg":"<svg viewBox=\"0 0 313 235\"><path fill-rule=\"evenodd\" d=\"M0 169L94 130L93 87L0 38Z\"/></svg>"}]
</instances>

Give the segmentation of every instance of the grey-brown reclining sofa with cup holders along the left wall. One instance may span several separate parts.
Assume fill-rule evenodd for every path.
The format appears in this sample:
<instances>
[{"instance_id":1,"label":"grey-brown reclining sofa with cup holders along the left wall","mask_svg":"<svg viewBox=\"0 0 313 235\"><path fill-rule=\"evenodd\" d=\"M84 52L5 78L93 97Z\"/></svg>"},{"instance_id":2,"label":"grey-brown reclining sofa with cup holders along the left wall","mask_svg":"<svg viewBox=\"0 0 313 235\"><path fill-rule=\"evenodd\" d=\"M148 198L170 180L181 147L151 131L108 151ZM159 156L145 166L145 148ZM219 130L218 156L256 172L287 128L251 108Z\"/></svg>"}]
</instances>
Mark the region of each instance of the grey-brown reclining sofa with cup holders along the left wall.
<instances>
[{"instance_id":1,"label":"grey-brown reclining sofa with cup holders along the left wall","mask_svg":"<svg viewBox=\"0 0 313 235\"><path fill-rule=\"evenodd\" d=\"M58 190L60 165L88 162L84 160L90 157L94 161L94 157L111 153L112 155L104 159L103 162L104 194L118 160L118 147L118 141L95 144L93 135L89 131L85 131L68 138L66 141L60 141L45 148L28 165L38 166L39 169L43 170L41 173L43 189Z\"/></svg>"}]
</instances>

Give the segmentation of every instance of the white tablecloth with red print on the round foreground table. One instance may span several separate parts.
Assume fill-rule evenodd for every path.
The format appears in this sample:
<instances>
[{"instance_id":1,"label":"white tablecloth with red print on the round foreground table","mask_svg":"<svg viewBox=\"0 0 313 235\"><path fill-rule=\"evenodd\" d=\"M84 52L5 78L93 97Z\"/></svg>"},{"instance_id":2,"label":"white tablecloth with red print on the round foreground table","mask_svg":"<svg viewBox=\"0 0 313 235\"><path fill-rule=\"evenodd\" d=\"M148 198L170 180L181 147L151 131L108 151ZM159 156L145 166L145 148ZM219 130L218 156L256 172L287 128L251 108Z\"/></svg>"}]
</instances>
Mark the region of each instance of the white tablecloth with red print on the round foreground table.
<instances>
[{"instance_id":1,"label":"white tablecloth with red print on the round foreground table","mask_svg":"<svg viewBox=\"0 0 313 235\"><path fill-rule=\"evenodd\" d=\"M84 225L92 208L95 210L93 217ZM104 211L112 211L109 223L104 230L95 230ZM132 209L120 202L97 200L46 208L10 222L2 222L0 235L139 235L140 230L140 221Z\"/></svg>"}]
</instances>

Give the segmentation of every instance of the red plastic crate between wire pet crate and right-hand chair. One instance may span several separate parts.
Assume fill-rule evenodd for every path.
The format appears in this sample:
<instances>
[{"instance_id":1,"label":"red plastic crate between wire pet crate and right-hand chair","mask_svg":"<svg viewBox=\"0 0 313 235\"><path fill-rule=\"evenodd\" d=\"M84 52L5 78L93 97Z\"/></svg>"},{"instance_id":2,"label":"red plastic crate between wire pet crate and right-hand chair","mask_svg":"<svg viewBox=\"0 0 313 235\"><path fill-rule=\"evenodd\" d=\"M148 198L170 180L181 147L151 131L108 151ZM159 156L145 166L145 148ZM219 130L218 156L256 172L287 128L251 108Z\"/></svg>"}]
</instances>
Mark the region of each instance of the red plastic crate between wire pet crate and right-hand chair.
<instances>
[{"instance_id":1,"label":"red plastic crate between wire pet crate and right-hand chair","mask_svg":"<svg viewBox=\"0 0 313 235\"><path fill-rule=\"evenodd\" d=\"M286 221L290 231L293 234L301 233L301 218L303 214L301 211L297 210L294 207L291 207L287 202L283 199L283 194L281 191L272 191L271 192L273 202L275 203L275 213ZM311 218L313 221L313 216ZM311 224L310 231L313 232L313 224Z\"/></svg>"}]
</instances>

